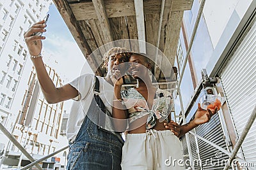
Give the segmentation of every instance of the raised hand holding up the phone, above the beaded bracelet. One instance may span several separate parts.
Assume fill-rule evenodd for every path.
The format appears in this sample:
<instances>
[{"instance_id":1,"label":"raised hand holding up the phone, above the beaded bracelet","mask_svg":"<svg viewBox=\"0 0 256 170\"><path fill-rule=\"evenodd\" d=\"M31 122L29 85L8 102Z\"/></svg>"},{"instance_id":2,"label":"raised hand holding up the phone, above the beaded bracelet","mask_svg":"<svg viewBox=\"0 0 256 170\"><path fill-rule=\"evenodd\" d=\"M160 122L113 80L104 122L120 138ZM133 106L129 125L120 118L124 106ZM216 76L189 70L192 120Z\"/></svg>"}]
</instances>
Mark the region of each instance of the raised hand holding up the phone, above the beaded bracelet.
<instances>
[{"instance_id":1,"label":"raised hand holding up the phone, above the beaded bracelet","mask_svg":"<svg viewBox=\"0 0 256 170\"><path fill-rule=\"evenodd\" d=\"M28 50L30 55L39 55L42 50L42 39L45 39L45 36L35 36L36 32L45 32L46 25L44 24L44 20L41 20L40 22L36 22L32 25L24 33L24 39L26 42L26 45L28 46Z\"/></svg>"}]
</instances>

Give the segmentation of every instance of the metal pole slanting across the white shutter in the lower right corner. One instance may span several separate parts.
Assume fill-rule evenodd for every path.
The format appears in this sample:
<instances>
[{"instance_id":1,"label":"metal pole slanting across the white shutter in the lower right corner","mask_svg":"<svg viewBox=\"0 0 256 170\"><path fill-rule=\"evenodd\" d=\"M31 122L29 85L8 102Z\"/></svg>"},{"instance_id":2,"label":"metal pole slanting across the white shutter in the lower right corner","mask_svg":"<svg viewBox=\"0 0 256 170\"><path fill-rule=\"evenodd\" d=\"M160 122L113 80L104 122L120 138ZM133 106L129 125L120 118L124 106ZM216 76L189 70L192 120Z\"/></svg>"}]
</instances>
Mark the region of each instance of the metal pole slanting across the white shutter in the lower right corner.
<instances>
[{"instance_id":1,"label":"metal pole slanting across the white shutter in the lower right corner","mask_svg":"<svg viewBox=\"0 0 256 170\"><path fill-rule=\"evenodd\" d=\"M246 126L244 127L244 130L241 134L241 137L238 139L238 141L237 141L237 143L234 147L233 152L229 156L228 162L230 162L230 164L232 164L232 161L236 158L236 154L237 154L239 148L241 147L241 145L242 145L246 135L248 134L250 128L252 127L252 124L253 124L255 118L256 118L256 106L253 109L252 114L251 114L250 118L248 119L248 121L246 123ZM224 170L227 170L230 167L230 164L227 164L225 166Z\"/></svg>"}]
</instances>

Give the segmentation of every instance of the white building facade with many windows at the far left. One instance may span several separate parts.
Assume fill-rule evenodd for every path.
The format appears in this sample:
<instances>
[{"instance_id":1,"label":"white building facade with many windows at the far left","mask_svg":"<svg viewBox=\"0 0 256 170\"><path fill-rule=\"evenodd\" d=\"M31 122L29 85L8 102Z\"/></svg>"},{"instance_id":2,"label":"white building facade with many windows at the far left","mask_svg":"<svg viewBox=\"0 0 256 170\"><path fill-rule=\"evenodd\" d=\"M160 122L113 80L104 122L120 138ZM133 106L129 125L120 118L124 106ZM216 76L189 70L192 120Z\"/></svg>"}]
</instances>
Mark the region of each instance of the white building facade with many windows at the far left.
<instances>
[{"instance_id":1,"label":"white building facade with many windows at the far left","mask_svg":"<svg viewBox=\"0 0 256 170\"><path fill-rule=\"evenodd\" d=\"M29 53L24 31L45 17L50 4L51 0L0 0L0 122L10 132L32 69L31 62L26 62ZM1 153L8 139L2 132L0 138Z\"/></svg>"}]
</instances>

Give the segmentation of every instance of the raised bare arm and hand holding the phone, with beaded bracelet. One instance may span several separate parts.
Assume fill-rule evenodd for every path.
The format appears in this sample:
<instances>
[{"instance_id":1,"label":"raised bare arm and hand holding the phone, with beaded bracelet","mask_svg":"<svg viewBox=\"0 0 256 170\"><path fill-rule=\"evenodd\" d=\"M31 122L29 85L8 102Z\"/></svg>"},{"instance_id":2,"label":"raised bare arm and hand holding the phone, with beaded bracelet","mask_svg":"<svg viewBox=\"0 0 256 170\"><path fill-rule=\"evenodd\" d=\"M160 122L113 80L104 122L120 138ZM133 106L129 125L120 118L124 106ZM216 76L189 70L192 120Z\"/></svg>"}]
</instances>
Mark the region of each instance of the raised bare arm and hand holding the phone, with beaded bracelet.
<instances>
[{"instance_id":1,"label":"raised bare arm and hand holding the phone, with beaded bracelet","mask_svg":"<svg viewBox=\"0 0 256 170\"><path fill-rule=\"evenodd\" d=\"M35 32L45 32L45 27L44 20L37 22L25 32L24 39L30 55L36 56L35 58L31 57L31 60L35 66L36 76L46 101L48 103L58 103L76 97L78 92L74 87L68 84L56 88L45 69L42 57L38 57L42 50L42 39L45 39L45 37L35 36L34 34Z\"/></svg>"}]
</instances>

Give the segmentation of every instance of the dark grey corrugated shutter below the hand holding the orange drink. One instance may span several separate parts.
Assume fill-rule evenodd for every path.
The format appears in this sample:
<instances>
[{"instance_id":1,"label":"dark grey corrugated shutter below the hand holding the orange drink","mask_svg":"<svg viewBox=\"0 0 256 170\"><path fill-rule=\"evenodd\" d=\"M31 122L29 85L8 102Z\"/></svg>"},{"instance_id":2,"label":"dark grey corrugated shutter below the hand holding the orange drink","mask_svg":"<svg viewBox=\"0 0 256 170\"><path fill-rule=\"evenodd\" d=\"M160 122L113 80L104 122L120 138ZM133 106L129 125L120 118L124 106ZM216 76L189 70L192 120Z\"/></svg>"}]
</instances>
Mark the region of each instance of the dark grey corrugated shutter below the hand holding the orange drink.
<instances>
[{"instance_id":1,"label":"dark grey corrugated shutter below the hand holding the orange drink","mask_svg":"<svg viewBox=\"0 0 256 170\"><path fill-rule=\"evenodd\" d=\"M225 150L227 150L227 146L225 143L225 138L223 131L221 129L220 118L218 114L214 115L211 118L211 121L207 124L200 125L195 129L196 134L202 136L203 138L215 143L218 146L221 146ZM189 134L191 152L193 154L193 159L198 159L196 153L196 143L193 135ZM182 146L184 155L188 154L188 148L186 146L186 138L182 138ZM228 160L228 155L223 152L220 152L217 148L205 143L204 141L198 139L198 148L200 159L202 162L202 169L223 169L225 167L224 160ZM189 157L185 157L185 160L189 159ZM186 167L188 168L188 167ZM195 169L200 169L199 165L195 164ZM231 168L230 168L231 169Z\"/></svg>"}]
</instances>

